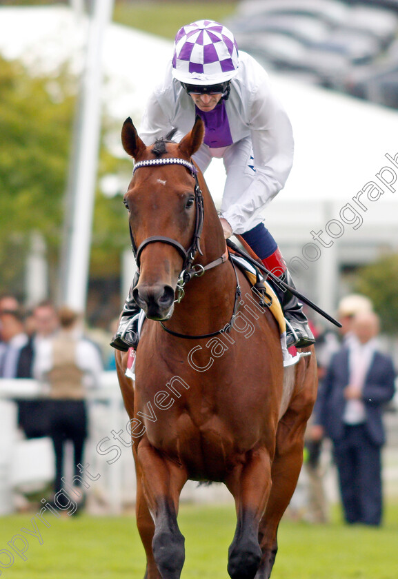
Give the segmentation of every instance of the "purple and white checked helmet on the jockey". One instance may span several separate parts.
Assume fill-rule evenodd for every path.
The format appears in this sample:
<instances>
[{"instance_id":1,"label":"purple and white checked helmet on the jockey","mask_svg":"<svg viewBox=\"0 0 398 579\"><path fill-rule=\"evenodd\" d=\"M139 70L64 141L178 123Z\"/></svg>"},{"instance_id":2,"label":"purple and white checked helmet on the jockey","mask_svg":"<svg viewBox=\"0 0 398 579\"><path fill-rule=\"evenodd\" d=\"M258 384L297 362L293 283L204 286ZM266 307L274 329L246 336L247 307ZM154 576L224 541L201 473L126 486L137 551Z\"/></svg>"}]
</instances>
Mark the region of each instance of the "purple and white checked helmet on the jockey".
<instances>
[{"instance_id":1,"label":"purple and white checked helmet on the jockey","mask_svg":"<svg viewBox=\"0 0 398 579\"><path fill-rule=\"evenodd\" d=\"M212 85L237 74L238 47L228 28L213 20L198 20L180 28L175 37L172 75L183 83Z\"/></svg>"}]
</instances>

